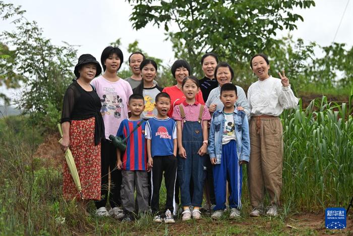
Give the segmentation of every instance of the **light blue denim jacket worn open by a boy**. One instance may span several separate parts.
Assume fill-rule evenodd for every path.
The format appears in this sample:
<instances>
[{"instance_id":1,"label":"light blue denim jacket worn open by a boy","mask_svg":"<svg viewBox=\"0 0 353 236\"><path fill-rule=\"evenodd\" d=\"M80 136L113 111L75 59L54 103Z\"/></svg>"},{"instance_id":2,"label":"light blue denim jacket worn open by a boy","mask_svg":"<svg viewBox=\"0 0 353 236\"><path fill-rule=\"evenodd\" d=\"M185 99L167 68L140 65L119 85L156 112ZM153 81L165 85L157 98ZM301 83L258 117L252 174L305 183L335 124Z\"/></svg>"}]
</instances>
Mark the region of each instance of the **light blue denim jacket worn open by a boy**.
<instances>
[{"instance_id":1,"label":"light blue denim jacket worn open by a boy","mask_svg":"<svg viewBox=\"0 0 353 236\"><path fill-rule=\"evenodd\" d=\"M222 136L224 129L223 109L217 110L212 115L210 135L208 138L208 152L210 158L216 158L217 163L221 163ZM237 154L239 161L249 162L250 157L250 136L248 118L243 111L234 109L234 124L236 125Z\"/></svg>"}]
</instances>

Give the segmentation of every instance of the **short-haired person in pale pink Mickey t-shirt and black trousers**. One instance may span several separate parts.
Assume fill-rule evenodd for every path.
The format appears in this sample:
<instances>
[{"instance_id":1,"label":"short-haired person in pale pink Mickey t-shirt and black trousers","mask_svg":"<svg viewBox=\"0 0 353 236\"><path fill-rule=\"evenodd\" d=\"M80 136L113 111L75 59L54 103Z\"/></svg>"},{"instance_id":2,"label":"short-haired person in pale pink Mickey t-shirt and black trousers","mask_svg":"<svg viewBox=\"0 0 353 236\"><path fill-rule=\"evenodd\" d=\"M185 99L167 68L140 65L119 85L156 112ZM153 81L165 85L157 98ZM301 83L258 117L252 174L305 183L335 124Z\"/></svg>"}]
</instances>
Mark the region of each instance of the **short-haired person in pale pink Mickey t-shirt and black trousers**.
<instances>
[{"instance_id":1,"label":"short-haired person in pale pink Mickey t-shirt and black trousers","mask_svg":"<svg viewBox=\"0 0 353 236\"><path fill-rule=\"evenodd\" d=\"M117 71L123 64L123 52L119 48L108 46L102 52L100 61L104 74L95 78L91 84L96 88L100 98L105 137L102 138L101 147L101 200L97 201L96 214L98 216L114 215L117 218L123 217L121 208L120 190L122 174L116 169L116 148L109 143L109 135L116 135L120 123L128 118L128 101L132 95L129 82L117 76ZM110 193L109 203L111 209L105 208L108 197L108 173L110 171Z\"/></svg>"}]
</instances>

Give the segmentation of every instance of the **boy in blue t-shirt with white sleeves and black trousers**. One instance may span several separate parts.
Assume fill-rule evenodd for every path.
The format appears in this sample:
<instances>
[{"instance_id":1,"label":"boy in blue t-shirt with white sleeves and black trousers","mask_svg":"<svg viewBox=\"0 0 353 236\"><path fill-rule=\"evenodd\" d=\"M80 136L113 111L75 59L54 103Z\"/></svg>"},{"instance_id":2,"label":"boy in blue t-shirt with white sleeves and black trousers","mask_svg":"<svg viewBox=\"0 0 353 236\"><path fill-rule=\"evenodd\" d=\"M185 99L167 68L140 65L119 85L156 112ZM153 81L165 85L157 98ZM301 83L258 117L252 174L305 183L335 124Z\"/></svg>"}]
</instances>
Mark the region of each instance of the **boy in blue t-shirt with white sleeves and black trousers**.
<instances>
[{"instance_id":1,"label":"boy in blue t-shirt with white sleeves and black trousers","mask_svg":"<svg viewBox=\"0 0 353 236\"><path fill-rule=\"evenodd\" d=\"M146 124L148 167L152 169L151 209L156 214L159 211L159 190L164 182L167 192L165 214L157 215L155 222L174 223L175 215L174 188L177 177L177 122L167 116L170 109L168 93L160 92L155 99L158 114L149 119Z\"/></svg>"}]
</instances>

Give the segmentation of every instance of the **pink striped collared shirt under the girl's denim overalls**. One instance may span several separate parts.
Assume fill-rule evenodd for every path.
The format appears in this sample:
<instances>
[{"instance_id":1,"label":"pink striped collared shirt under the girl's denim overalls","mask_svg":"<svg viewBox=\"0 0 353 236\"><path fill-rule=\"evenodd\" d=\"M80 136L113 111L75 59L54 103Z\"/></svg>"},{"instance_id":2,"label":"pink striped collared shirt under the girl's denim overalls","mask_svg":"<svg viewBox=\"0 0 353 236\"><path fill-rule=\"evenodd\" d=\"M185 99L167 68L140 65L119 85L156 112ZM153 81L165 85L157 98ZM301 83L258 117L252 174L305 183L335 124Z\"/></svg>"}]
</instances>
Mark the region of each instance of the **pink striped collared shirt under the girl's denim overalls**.
<instances>
[{"instance_id":1,"label":"pink striped collared shirt under the girl's denim overalls","mask_svg":"<svg viewBox=\"0 0 353 236\"><path fill-rule=\"evenodd\" d=\"M191 104L188 104L186 101L184 101L181 105L183 106L183 109L184 109L186 121L199 121L200 107L201 107L201 104L199 102L195 101L195 103L191 105ZM183 120L179 106L174 107L172 118L174 120ZM203 108L201 119L202 121L211 119L210 112L208 111L208 108L206 106L204 106ZM201 121L201 127L202 127L202 121ZM182 122L182 130L183 128L184 128L184 122Z\"/></svg>"}]
</instances>

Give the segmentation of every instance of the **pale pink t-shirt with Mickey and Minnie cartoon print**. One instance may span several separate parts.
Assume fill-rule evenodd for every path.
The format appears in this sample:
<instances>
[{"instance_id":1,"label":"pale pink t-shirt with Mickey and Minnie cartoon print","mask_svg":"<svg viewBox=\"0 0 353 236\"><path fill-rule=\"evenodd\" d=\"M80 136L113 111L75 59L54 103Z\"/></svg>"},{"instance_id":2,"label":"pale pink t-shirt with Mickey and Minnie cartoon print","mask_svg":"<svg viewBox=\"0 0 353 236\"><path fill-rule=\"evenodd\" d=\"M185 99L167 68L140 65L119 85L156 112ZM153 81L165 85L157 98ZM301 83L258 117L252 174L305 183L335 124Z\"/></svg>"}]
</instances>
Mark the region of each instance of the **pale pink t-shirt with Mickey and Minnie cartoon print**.
<instances>
[{"instance_id":1,"label":"pale pink t-shirt with Mickey and Minnie cartoon print","mask_svg":"<svg viewBox=\"0 0 353 236\"><path fill-rule=\"evenodd\" d=\"M105 138L109 139L109 135L115 136L120 123L128 118L129 98L133 91L129 82L121 78L110 82L100 75L91 84L96 88L102 104L100 112L104 120Z\"/></svg>"}]
</instances>

